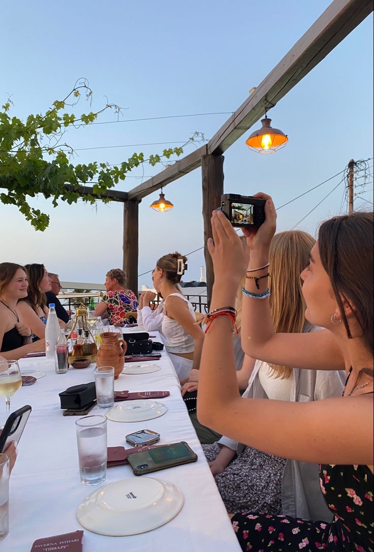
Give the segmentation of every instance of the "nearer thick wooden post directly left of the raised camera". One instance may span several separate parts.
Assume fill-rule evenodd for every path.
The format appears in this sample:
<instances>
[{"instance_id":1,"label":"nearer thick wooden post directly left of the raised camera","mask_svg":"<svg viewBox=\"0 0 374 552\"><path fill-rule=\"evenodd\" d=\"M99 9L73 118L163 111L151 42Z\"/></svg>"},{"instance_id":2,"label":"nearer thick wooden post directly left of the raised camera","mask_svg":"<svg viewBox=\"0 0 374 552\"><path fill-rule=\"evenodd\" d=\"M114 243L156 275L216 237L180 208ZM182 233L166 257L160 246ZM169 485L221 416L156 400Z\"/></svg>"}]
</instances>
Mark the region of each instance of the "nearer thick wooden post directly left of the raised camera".
<instances>
[{"instance_id":1,"label":"nearer thick wooden post directly left of the raised camera","mask_svg":"<svg viewBox=\"0 0 374 552\"><path fill-rule=\"evenodd\" d=\"M203 219L204 219L204 257L207 267L208 306L212 299L214 282L213 263L207 248L207 240L212 237L210 217L213 209L221 204L223 194L223 155L203 155L201 158L202 188L203 188Z\"/></svg>"}]
</instances>

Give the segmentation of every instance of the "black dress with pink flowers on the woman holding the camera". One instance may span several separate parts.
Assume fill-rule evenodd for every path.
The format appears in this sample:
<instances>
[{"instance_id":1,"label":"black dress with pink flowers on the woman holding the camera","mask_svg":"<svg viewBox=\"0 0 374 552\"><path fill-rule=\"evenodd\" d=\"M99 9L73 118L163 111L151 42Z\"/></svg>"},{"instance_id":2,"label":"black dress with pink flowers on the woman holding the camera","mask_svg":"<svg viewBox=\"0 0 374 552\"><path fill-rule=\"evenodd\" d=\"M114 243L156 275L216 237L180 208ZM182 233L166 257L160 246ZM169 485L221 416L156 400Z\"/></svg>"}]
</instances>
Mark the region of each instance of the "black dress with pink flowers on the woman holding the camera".
<instances>
[{"instance_id":1,"label":"black dress with pink flowers on the woman holding the camera","mask_svg":"<svg viewBox=\"0 0 374 552\"><path fill-rule=\"evenodd\" d=\"M320 465L331 523L239 513L232 518L242 550L253 552L373 552L373 474L365 466Z\"/></svg>"}]
</instances>

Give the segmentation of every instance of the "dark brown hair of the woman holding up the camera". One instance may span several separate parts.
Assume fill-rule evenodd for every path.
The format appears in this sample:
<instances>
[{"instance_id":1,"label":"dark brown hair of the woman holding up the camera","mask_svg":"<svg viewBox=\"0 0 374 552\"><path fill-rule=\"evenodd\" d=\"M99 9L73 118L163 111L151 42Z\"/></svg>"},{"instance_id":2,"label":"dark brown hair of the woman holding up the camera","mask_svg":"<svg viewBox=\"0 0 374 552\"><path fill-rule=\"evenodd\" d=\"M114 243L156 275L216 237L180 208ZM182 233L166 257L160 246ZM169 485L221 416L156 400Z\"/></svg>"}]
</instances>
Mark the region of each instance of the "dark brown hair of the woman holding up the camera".
<instances>
[{"instance_id":1,"label":"dark brown hair of the woman holding up the camera","mask_svg":"<svg viewBox=\"0 0 374 552\"><path fill-rule=\"evenodd\" d=\"M334 216L320 226L319 254L329 275L341 319L352 339L343 301L352 308L362 340L373 354L373 213Z\"/></svg>"}]
</instances>

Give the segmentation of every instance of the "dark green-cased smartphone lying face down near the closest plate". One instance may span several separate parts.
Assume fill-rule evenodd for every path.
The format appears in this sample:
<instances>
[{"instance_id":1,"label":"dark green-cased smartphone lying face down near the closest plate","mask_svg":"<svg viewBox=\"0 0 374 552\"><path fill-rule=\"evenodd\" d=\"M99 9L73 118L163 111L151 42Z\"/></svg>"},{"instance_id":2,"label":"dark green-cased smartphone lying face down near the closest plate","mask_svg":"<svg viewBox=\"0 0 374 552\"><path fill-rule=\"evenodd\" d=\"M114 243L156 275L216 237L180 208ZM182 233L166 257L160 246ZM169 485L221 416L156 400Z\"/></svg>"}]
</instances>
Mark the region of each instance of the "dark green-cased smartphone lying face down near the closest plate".
<instances>
[{"instance_id":1,"label":"dark green-cased smartphone lying face down near the closest plate","mask_svg":"<svg viewBox=\"0 0 374 552\"><path fill-rule=\"evenodd\" d=\"M172 466L180 466L189 462L196 462L197 454L189 448L185 441L171 443L163 447L141 450L129 454L128 463L135 475L150 474L152 471L165 470Z\"/></svg>"}]
</instances>

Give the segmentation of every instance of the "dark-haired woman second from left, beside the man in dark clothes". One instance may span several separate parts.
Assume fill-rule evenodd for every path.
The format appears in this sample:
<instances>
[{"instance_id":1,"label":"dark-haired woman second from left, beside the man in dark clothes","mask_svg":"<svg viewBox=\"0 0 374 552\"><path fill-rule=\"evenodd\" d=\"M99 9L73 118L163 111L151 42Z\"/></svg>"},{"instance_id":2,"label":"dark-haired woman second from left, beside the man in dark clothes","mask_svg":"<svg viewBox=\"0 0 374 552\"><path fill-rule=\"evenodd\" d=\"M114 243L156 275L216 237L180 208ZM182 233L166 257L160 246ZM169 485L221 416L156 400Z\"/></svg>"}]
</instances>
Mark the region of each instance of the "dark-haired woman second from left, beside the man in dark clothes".
<instances>
[{"instance_id":1,"label":"dark-haired woman second from left, beside the man in dark clothes","mask_svg":"<svg viewBox=\"0 0 374 552\"><path fill-rule=\"evenodd\" d=\"M17 307L23 316L23 320L33 332L33 341L45 337L45 325L47 323L48 306L46 305L45 292L50 291L51 279L44 264L26 264L29 286L27 296L18 301ZM59 320L62 328L66 328L65 322Z\"/></svg>"}]
</instances>

